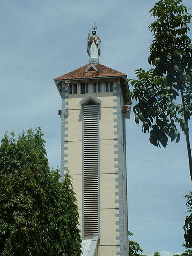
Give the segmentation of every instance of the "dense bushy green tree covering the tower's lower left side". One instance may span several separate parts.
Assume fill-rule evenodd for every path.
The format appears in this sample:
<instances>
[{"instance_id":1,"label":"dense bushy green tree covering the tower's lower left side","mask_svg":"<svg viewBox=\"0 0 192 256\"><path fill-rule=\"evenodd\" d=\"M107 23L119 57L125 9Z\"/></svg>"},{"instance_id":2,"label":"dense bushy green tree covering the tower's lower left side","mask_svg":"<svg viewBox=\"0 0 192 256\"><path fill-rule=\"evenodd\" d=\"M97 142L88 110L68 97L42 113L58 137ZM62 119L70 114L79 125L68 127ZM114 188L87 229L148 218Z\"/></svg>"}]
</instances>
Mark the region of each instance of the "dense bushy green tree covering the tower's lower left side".
<instances>
[{"instance_id":1,"label":"dense bushy green tree covering the tower's lower left side","mask_svg":"<svg viewBox=\"0 0 192 256\"><path fill-rule=\"evenodd\" d=\"M6 132L0 145L0 255L79 256L78 210L70 176L49 169L41 129Z\"/></svg>"}]
</instances>

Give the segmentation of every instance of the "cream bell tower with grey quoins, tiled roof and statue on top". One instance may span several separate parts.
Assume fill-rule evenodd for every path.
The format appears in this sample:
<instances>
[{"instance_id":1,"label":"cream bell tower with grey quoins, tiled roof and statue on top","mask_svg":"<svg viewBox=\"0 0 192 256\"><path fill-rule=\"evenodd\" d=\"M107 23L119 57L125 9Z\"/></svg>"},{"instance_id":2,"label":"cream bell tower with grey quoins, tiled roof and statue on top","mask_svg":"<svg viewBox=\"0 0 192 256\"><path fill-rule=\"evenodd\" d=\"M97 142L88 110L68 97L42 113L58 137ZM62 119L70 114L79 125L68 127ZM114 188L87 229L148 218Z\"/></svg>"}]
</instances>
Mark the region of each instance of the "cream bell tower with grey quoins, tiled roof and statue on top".
<instances>
[{"instance_id":1,"label":"cream bell tower with grey quoins, tiled roof and statue on top","mask_svg":"<svg viewBox=\"0 0 192 256\"><path fill-rule=\"evenodd\" d=\"M73 177L82 255L127 256L125 119L131 102L127 76L99 64L98 38L93 27L89 64L54 79L62 99L61 177L67 169Z\"/></svg>"}]
</instances>

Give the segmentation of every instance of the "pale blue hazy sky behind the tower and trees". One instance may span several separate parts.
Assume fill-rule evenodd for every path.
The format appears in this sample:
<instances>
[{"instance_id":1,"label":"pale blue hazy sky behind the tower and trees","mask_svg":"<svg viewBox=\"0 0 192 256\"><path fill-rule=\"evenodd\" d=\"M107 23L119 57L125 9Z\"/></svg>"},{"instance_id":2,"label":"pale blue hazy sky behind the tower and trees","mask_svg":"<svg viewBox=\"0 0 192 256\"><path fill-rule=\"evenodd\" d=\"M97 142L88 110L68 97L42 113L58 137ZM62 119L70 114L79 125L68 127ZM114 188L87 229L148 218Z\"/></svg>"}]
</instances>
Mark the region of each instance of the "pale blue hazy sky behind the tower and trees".
<instances>
[{"instance_id":1,"label":"pale blue hazy sky behind the tower and trees","mask_svg":"<svg viewBox=\"0 0 192 256\"><path fill-rule=\"evenodd\" d=\"M88 29L99 30L99 62L135 78L149 69L148 11L155 0L2 0L0 3L0 138L41 126L49 165L60 166L61 97L53 79L89 62ZM192 7L192 0L183 0ZM192 28L192 26L190 25ZM190 34L192 38L192 34ZM132 88L131 88L132 90ZM156 148L126 121L128 220L144 254L183 252L186 200L192 190L186 144ZM191 124L192 129L192 124ZM192 136L191 136L192 143Z\"/></svg>"}]
</instances>

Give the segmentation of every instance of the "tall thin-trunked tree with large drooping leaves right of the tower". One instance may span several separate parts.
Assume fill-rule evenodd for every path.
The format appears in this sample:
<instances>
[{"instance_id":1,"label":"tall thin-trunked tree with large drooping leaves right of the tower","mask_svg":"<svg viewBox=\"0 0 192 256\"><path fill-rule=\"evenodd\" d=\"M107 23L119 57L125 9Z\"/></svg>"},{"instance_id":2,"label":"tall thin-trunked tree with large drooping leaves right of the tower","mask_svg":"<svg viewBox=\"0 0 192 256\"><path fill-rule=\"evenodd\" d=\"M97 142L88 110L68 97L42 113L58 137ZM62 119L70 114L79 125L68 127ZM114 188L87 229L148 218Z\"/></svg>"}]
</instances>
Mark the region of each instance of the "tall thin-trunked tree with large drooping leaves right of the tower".
<instances>
[{"instance_id":1,"label":"tall thin-trunked tree with large drooping leaves right of the tower","mask_svg":"<svg viewBox=\"0 0 192 256\"><path fill-rule=\"evenodd\" d=\"M187 33L192 15L181 0L160 0L150 10L157 18L149 28L154 40L150 46L149 64L153 69L136 70L137 80L132 98L135 122L142 131L150 131L150 142L166 147L168 138L178 142L186 136L189 171L192 180L192 155L189 142L189 119L192 115L192 44ZM130 80L130 79L129 79Z\"/></svg>"}]
</instances>

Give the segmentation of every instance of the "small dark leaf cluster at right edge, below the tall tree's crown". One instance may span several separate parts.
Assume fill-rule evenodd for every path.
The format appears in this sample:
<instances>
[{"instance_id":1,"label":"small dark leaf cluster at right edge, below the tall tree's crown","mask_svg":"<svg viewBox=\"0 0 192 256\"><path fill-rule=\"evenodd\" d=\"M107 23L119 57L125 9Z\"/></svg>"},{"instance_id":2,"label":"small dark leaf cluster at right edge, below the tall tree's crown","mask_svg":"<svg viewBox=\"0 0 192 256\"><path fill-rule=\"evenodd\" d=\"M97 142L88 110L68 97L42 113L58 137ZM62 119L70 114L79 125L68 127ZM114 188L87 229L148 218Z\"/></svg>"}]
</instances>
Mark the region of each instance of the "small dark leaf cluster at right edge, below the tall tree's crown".
<instances>
[{"instance_id":1,"label":"small dark leaf cluster at right edge, below the tall tree's crown","mask_svg":"<svg viewBox=\"0 0 192 256\"><path fill-rule=\"evenodd\" d=\"M185 225L183 226L183 229L185 230L184 239L186 241L186 247L192 247L192 192L189 192L189 195L185 195L184 197L187 199L186 206L189 209L188 212L191 213L186 216ZM189 251L192 253L192 250Z\"/></svg>"}]
</instances>

